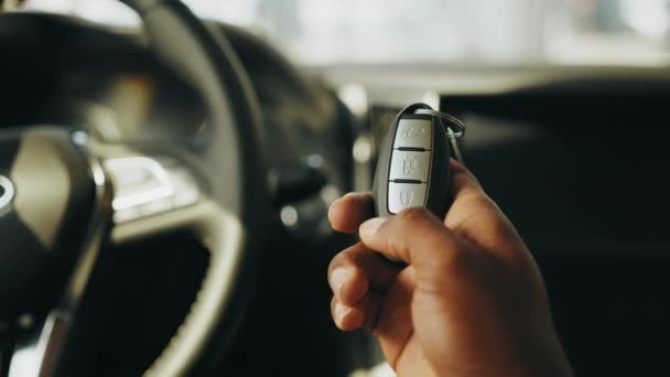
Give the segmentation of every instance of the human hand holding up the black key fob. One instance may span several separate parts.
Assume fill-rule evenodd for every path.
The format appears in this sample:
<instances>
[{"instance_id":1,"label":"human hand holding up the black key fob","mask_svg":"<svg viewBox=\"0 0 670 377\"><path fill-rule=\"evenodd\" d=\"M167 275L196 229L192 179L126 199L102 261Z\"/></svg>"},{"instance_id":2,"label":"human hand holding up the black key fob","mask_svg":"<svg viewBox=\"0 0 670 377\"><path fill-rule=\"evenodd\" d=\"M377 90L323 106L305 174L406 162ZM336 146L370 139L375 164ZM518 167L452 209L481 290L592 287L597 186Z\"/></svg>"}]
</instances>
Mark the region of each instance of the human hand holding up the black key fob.
<instances>
[{"instance_id":1,"label":"human hand holding up the black key fob","mask_svg":"<svg viewBox=\"0 0 670 377\"><path fill-rule=\"evenodd\" d=\"M422 208L368 219L369 194L332 205L333 228L361 239L328 268L336 325L372 332L399 376L571 376L532 256L474 175L451 164L444 222Z\"/></svg>"}]
</instances>

